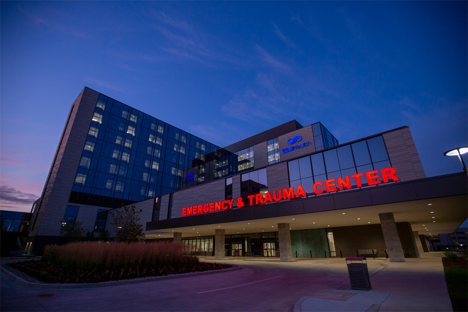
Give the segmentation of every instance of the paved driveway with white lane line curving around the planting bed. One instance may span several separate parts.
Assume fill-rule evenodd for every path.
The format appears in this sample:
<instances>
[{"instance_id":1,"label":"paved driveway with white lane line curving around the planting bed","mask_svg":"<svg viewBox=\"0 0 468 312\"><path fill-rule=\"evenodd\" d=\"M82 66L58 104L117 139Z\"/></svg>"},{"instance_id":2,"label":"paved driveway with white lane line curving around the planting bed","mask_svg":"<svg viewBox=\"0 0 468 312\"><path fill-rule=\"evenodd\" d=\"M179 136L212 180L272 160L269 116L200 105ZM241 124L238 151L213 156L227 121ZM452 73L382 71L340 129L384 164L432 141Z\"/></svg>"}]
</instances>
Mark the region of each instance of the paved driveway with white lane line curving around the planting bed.
<instances>
[{"instance_id":1,"label":"paved driveway with white lane line curving around the planting bed","mask_svg":"<svg viewBox=\"0 0 468 312\"><path fill-rule=\"evenodd\" d=\"M299 298L349 282L342 259L229 262L243 268L94 289L29 289L2 273L1 311L292 311ZM371 267L380 262L375 260ZM57 295L36 297L44 293Z\"/></svg>"}]
</instances>

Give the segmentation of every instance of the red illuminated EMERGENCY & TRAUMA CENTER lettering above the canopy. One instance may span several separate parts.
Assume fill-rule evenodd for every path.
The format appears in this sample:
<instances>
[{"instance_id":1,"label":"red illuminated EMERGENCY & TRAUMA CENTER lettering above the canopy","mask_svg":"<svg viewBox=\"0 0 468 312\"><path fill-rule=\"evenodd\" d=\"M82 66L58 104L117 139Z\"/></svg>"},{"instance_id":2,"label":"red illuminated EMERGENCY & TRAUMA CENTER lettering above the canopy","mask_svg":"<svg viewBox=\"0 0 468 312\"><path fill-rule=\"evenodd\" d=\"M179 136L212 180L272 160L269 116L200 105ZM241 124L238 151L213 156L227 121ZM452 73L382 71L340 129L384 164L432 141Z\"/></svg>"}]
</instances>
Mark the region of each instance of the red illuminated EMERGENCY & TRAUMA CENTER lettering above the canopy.
<instances>
[{"instance_id":1,"label":"red illuminated EMERGENCY & TRAUMA CENTER lettering above the canopy","mask_svg":"<svg viewBox=\"0 0 468 312\"><path fill-rule=\"evenodd\" d=\"M312 190L315 194L336 192L338 190L351 189L351 182L355 182L356 187L361 187L361 177L366 177L368 185L375 185L380 183L387 183L391 181L399 181L400 179L395 176L395 169L392 167L379 170L368 171L366 173L359 173L351 176L345 176L344 178L338 177L336 179L325 180L325 183L317 181L313 184ZM380 176L379 176L380 174ZM274 201L280 201L284 199L298 198L299 196L306 197L307 194L302 188L302 185L297 186L294 192L294 188L279 189L273 192L267 192L265 196L263 194L254 194L247 196L248 200L244 203L242 197L237 198L234 203L233 199L222 200L212 202L204 205L195 205L191 207L185 207L182 209L182 216L186 215L197 215L206 214L215 211L232 209L235 207L244 207L244 205L258 205L265 204Z\"/></svg>"}]
</instances>

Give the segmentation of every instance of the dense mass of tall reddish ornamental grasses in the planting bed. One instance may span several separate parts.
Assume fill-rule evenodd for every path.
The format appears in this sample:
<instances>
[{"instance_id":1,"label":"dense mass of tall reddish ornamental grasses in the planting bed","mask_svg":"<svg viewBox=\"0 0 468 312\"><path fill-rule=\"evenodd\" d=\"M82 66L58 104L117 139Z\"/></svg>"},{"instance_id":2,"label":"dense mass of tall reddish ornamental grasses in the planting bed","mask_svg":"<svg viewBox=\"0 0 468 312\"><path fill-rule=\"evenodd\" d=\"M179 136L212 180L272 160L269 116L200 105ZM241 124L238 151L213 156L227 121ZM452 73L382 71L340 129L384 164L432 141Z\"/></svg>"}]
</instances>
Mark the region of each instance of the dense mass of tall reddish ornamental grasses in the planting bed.
<instances>
[{"instance_id":1,"label":"dense mass of tall reddish ornamental grasses in the planting bed","mask_svg":"<svg viewBox=\"0 0 468 312\"><path fill-rule=\"evenodd\" d=\"M48 245L42 260L65 267L86 270L121 270L138 268L188 268L199 261L187 252L183 243L106 243L74 242L66 245Z\"/></svg>"}]
</instances>

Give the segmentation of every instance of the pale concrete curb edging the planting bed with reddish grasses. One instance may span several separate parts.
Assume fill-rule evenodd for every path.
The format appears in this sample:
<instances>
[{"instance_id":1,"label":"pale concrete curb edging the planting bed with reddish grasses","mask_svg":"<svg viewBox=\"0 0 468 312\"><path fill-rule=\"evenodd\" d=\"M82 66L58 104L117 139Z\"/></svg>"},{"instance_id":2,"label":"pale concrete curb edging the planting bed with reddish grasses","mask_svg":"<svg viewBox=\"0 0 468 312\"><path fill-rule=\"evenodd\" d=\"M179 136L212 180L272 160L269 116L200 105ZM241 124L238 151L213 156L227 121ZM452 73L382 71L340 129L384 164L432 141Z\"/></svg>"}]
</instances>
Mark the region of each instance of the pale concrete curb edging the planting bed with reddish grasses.
<instances>
[{"instance_id":1,"label":"pale concrete curb edging the planting bed with reddish grasses","mask_svg":"<svg viewBox=\"0 0 468 312\"><path fill-rule=\"evenodd\" d=\"M118 281L109 281L109 282L100 282L100 283L88 283L88 284L47 284L47 283L33 283L28 282L27 280L21 278L20 276L16 275L13 272L0 267L1 272L6 273L8 277L17 283L20 286L28 287L28 288L37 288L37 289L77 289L77 288L101 288L101 287L110 287L110 286L118 286L118 285L126 285L126 284L138 284L138 283L145 283L145 282L154 282L159 280L166 280L166 279L176 279L176 278L183 278L183 277L191 277L197 275L208 275L208 274L215 274L215 273L223 273L223 272L230 272L241 270L242 267L234 264L230 264L233 267L228 269L222 270L213 270L213 271L203 271L203 272L193 272L193 273L183 273L183 274L174 274L174 275L165 275L165 276L152 276L152 277L142 277L142 278L135 278L135 279L123 279Z\"/></svg>"}]
</instances>

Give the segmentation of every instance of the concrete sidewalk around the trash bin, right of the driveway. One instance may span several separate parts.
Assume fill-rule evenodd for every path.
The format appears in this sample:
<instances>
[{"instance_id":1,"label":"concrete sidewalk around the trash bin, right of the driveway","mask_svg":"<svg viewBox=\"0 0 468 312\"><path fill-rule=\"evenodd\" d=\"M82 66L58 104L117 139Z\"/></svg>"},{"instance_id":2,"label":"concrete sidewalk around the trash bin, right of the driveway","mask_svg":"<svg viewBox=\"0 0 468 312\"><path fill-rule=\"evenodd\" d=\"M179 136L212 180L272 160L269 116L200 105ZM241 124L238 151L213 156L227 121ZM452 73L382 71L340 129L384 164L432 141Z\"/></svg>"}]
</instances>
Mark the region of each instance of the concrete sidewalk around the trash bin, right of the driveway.
<instances>
[{"instance_id":1,"label":"concrete sidewalk around the trash bin, right of the driveway","mask_svg":"<svg viewBox=\"0 0 468 312\"><path fill-rule=\"evenodd\" d=\"M299 299L294 311L452 311L440 254L383 264L370 271L370 291L323 290Z\"/></svg>"}]
</instances>

